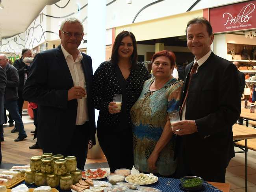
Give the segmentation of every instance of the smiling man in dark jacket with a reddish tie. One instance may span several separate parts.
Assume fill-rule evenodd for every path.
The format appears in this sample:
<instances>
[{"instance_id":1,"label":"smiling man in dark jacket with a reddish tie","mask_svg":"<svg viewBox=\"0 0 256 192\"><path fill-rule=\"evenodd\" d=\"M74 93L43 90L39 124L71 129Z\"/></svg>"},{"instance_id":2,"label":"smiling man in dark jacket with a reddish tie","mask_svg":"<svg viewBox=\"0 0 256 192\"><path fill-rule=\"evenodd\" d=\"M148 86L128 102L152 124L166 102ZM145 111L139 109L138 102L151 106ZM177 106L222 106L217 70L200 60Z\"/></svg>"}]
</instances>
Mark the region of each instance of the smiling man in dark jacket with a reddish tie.
<instances>
[{"instance_id":1,"label":"smiling man in dark jacket with a reddish tie","mask_svg":"<svg viewBox=\"0 0 256 192\"><path fill-rule=\"evenodd\" d=\"M208 20L189 21L186 35L195 60L185 69L182 120L172 124L177 134L176 176L225 182L226 167L234 157L232 126L241 111L237 69L211 52L214 36Z\"/></svg>"}]
</instances>

